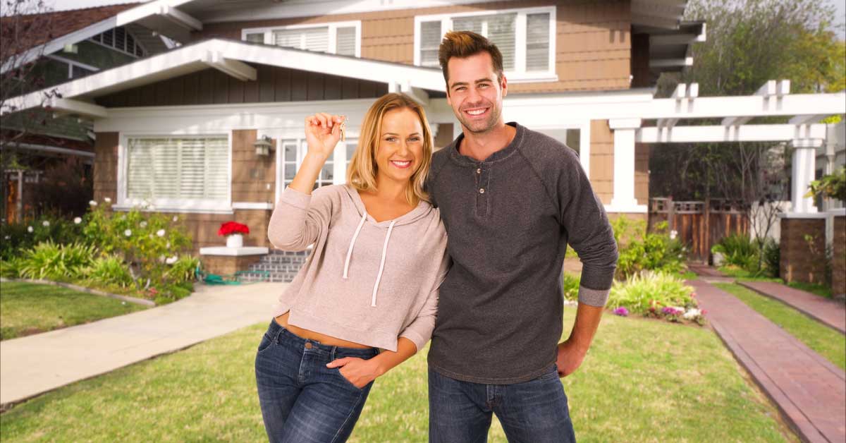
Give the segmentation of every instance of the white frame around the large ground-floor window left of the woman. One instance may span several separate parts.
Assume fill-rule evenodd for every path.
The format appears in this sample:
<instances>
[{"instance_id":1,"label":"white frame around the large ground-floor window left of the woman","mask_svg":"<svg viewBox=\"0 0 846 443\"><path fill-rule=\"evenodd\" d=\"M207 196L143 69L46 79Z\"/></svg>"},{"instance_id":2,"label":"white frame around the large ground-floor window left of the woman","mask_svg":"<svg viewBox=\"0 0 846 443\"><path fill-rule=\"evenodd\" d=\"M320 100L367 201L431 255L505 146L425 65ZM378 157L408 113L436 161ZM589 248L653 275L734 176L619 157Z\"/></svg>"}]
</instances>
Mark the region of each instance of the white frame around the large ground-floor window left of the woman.
<instances>
[{"instance_id":1,"label":"white frame around the large ground-floor window left of the woman","mask_svg":"<svg viewBox=\"0 0 846 443\"><path fill-rule=\"evenodd\" d=\"M232 131L228 133L209 132L191 134L162 134L161 132L121 132L118 134L118 202L113 208L118 211L127 211L135 208L135 204L127 197L127 168L129 167L127 149L130 138L212 138L226 137L228 142L229 161L227 171L227 198L221 201L208 201L199 199L173 199L159 198L150 203L154 206L152 212L168 213L233 213L232 208ZM143 208L140 208L144 210ZM148 209L149 210L149 209Z\"/></svg>"}]
</instances>

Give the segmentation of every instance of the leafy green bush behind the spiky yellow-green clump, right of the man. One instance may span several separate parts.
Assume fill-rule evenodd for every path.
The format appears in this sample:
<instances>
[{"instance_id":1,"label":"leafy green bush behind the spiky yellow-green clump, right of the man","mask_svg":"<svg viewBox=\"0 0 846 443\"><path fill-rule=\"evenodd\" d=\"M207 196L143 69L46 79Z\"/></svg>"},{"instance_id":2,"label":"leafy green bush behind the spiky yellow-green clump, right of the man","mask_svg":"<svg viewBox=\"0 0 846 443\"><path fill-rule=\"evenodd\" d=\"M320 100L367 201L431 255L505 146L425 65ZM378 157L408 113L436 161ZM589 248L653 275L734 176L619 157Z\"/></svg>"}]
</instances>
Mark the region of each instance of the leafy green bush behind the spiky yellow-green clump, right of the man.
<instances>
[{"instance_id":1,"label":"leafy green bush behind the spiky yellow-green clump, right of the man","mask_svg":"<svg viewBox=\"0 0 846 443\"><path fill-rule=\"evenodd\" d=\"M618 279L626 279L643 270L665 273L683 273L687 266L687 247L681 241L670 237L667 222L655 224L651 232L646 231L645 222L615 219L612 227L618 241ZM631 231L630 235L628 231ZM629 236L628 244L620 245L622 237Z\"/></svg>"}]
</instances>

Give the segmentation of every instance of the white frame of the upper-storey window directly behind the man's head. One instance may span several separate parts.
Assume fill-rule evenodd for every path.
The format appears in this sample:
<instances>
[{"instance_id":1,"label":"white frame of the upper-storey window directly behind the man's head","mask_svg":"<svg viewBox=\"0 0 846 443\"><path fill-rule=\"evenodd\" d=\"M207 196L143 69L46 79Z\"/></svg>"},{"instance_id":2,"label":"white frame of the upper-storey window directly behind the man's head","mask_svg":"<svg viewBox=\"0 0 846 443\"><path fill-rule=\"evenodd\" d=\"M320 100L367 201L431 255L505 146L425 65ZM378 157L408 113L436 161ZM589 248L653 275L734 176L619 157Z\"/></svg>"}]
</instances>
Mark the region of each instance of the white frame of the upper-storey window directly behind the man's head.
<instances>
[{"instance_id":1,"label":"white frame of the upper-storey window directly behind the man's head","mask_svg":"<svg viewBox=\"0 0 846 443\"><path fill-rule=\"evenodd\" d=\"M537 8L495 9L455 14L415 15L415 66L420 66L420 24L425 21L440 21L441 36L453 29L453 19L468 16L517 14L514 27L514 70L505 71L509 83L537 81L558 81L555 69L556 8L542 6ZM549 69L547 71L526 72L526 15L549 14Z\"/></svg>"}]
</instances>

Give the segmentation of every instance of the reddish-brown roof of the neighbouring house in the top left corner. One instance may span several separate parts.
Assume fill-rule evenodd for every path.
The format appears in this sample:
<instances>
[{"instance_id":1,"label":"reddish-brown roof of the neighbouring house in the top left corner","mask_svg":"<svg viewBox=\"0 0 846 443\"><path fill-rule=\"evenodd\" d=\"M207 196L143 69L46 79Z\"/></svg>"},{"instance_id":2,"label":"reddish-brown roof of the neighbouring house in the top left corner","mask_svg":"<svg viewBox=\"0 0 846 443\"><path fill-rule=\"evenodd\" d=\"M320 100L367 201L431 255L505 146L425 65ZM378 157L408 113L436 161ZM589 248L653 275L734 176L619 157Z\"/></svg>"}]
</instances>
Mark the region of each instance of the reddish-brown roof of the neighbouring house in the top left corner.
<instances>
[{"instance_id":1,"label":"reddish-brown roof of the neighbouring house in the top left corner","mask_svg":"<svg viewBox=\"0 0 846 443\"><path fill-rule=\"evenodd\" d=\"M138 5L140 3L113 4L96 8L0 17L0 44L3 47L14 48L15 53L8 54L8 56L14 56L32 47L68 36L74 31L94 25ZM17 44L14 43L16 36Z\"/></svg>"}]
</instances>

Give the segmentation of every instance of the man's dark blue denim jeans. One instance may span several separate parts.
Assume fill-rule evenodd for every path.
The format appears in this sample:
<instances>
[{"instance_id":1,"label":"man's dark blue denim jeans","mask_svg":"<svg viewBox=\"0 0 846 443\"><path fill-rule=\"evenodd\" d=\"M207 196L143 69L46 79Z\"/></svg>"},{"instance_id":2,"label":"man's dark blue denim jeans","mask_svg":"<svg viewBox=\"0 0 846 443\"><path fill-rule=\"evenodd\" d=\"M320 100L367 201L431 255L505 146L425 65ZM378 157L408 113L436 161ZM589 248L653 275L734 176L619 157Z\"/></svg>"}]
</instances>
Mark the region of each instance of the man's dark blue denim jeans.
<instances>
[{"instance_id":1,"label":"man's dark blue denim jeans","mask_svg":"<svg viewBox=\"0 0 846 443\"><path fill-rule=\"evenodd\" d=\"M576 440L554 364L540 377L513 385L470 383L429 369L430 443L485 442L493 413L511 443Z\"/></svg>"}]
</instances>

